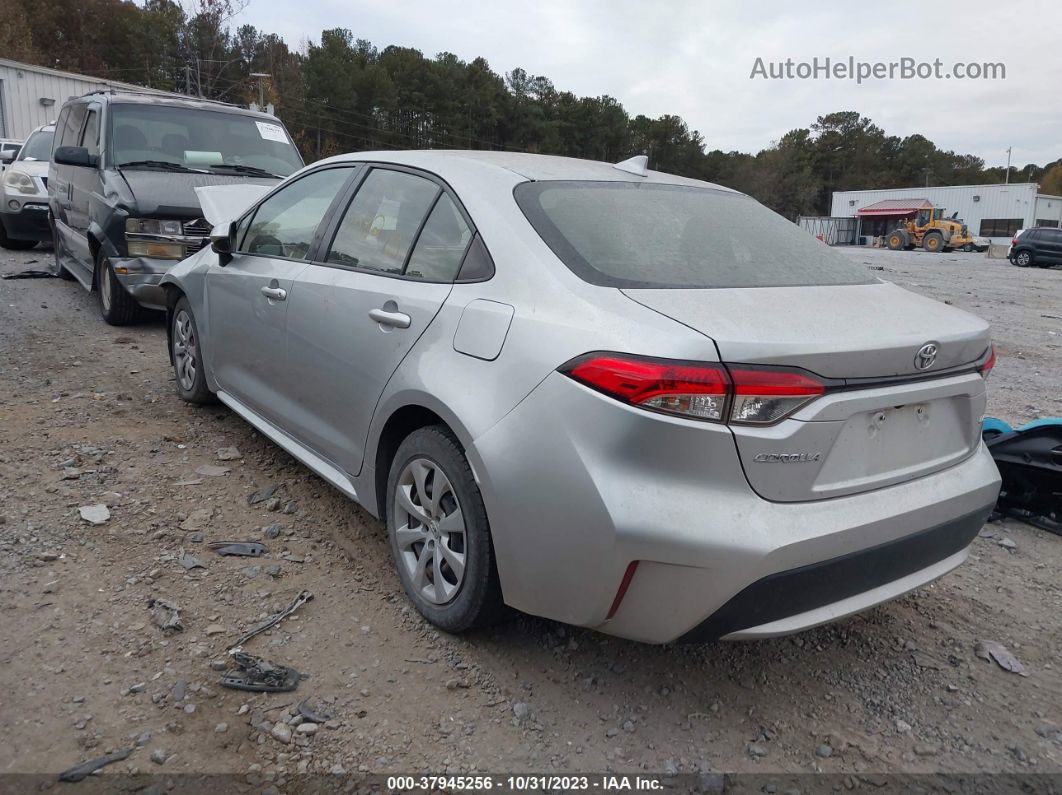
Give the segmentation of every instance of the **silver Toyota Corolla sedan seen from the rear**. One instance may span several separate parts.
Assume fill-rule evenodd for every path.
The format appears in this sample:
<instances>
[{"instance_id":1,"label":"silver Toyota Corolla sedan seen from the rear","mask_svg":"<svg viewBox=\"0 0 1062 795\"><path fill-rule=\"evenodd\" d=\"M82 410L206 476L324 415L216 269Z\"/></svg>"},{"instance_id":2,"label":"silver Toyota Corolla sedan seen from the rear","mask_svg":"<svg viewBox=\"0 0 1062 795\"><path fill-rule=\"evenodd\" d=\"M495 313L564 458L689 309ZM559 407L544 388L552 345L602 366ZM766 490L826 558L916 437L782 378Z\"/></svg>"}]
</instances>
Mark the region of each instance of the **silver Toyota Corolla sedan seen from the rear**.
<instances>
[{"instance_id":1,"label":"silver Toyota Corolla sedan seen from the rear","mask_svg":"<svg viewBox=\"0 0 1062 795\"><path fill-rule=\"evenodd\" d=\"M995 504L988 325L736 191L377 152L230 218L162 279L178 395L384 519L443 629L504 603L657 643L792 633L943 575Z\"/></svg>"}]
</instances>

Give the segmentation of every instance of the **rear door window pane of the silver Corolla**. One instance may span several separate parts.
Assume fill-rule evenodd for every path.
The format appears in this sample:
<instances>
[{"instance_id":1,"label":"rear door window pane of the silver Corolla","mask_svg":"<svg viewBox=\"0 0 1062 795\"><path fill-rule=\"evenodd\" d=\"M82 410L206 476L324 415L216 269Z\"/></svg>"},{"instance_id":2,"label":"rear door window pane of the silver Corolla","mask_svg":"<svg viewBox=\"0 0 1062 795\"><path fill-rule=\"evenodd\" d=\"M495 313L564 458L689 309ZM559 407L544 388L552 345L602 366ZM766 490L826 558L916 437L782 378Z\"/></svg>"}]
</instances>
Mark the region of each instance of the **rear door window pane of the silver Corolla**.
<instances>
[{"instance_id":1,"label":"rear door window pane of the silver Corolla","mask_svg":"<svg viewBox=\"0 0 1062 795\"><path fill-rule=\"evenodd\" d=\"M406 255L439 190L424 177L374 169L347 207L326 261L401 274Z\"/></svg>"}]
</instances>

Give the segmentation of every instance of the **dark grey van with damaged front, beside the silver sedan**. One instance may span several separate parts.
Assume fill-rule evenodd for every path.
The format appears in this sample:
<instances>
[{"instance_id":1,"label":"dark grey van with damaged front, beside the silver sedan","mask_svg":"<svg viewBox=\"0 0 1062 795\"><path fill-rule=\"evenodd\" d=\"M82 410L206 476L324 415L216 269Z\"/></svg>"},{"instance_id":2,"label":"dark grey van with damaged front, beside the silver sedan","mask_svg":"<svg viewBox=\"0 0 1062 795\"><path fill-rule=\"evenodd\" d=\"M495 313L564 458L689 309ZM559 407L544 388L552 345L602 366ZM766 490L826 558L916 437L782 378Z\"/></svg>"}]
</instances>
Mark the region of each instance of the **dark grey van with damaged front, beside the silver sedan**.
<instances>
[{"instance_id":1,"label":"dark grey van with damaged front, beside the silver sedan","mask_svg":"<svg viewBox=\"0 0 1062 795\"><path fill-rule=\"evenodd\" d=\"M95 289L107 323L133 323L165 308L159 280L206 244L196 187L272 185L302 167L268 114L150 93L71 100L49 170L56 272Z\"/></svg>"}]
</instances>

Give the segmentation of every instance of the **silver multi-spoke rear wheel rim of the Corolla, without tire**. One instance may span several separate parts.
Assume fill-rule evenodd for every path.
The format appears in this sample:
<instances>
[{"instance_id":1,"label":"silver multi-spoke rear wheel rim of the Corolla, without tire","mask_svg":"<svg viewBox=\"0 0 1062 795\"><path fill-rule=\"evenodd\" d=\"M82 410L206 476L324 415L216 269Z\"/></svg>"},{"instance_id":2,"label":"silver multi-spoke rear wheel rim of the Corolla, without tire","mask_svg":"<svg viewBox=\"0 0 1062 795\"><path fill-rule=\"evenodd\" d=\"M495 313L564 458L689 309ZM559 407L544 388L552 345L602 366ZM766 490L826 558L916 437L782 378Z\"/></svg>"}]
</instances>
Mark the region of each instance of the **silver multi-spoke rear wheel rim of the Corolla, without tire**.
<instances>
[{"instance_id":1,"label":"silver multi-spoke rear wheel rim of the Corolla, without tire","mask_svg":"<svg viewBox=\"0 0 1062 795\"><path fill-rule=\"evenodd\" d=\"M431 604L451 602L464 582L467 545L461 504L442 467L424 457L406 465L394 516L399 560L413 590Z\"/></svg>"}]
</instances>

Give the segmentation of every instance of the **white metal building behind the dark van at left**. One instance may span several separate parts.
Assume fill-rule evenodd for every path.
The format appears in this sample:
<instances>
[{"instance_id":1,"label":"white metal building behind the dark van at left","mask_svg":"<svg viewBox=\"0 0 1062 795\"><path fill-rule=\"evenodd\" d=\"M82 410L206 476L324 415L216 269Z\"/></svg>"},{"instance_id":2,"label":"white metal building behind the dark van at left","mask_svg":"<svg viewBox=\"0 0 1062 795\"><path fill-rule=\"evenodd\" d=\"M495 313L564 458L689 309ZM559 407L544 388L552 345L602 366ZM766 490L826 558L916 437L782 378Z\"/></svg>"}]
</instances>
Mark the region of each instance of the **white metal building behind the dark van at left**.
<instances>
[{"instance_id":1,"label":"white metal building behind the dark van at left","mask_svg":"<svg viewBox=\"0 0 1062 795\"><path fill-rule=\"evenodd\" d=\"M129 83L0 58L0 138L24 140L41 124L55 121L63 103L71 97L107 88L151 90Z\"/></svg>"}]
</instances>

